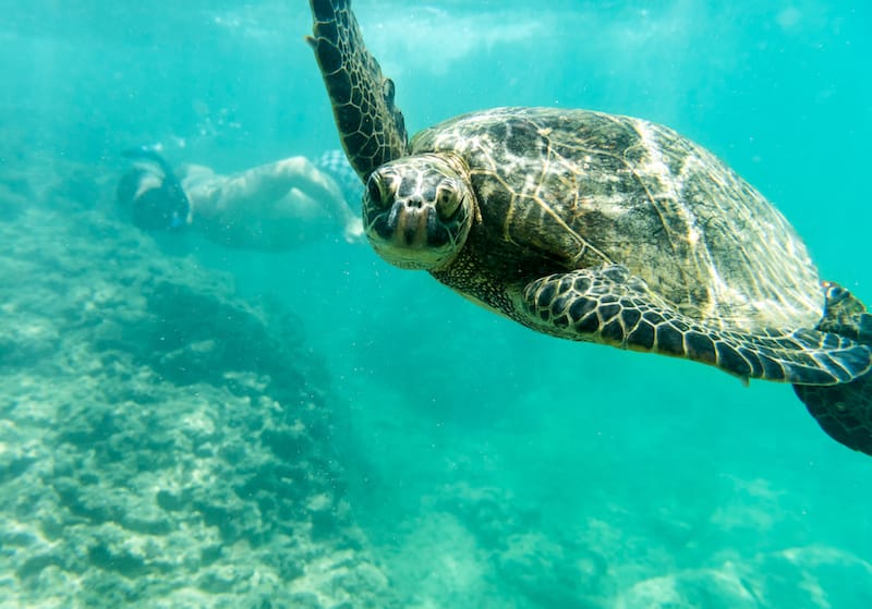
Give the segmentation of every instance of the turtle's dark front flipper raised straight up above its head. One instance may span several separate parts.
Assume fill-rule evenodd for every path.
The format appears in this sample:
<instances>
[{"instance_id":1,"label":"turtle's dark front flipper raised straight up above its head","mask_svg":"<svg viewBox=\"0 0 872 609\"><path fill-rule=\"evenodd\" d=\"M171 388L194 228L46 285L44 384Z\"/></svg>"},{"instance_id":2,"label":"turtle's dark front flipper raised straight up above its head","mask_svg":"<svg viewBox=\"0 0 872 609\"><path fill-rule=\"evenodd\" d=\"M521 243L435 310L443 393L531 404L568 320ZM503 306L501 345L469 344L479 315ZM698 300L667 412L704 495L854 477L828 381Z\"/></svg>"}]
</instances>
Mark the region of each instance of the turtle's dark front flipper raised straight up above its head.
<instances>
[{"instance_id":1,"label":"turtle's dark front flipper raised straight up above its head","mask_svg":"<svg viewBox=\"0 0 872 609\"><path fill-rule=\"evenodd\" d=\"M363 44L350 0L310 0L315 49L349 161L365 182L377 167L405 156L402 112L393 83Z\"/></svg>"}]
</instances>

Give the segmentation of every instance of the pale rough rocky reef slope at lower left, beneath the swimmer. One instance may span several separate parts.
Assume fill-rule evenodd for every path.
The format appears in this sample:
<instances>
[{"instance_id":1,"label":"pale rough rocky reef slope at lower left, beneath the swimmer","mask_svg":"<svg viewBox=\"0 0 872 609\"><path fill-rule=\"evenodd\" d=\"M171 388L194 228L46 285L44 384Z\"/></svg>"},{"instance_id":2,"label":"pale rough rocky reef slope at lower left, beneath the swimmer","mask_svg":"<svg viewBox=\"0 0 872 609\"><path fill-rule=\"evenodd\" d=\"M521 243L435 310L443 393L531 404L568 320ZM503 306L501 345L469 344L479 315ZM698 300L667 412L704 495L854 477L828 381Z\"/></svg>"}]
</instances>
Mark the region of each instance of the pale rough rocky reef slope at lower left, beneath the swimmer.
<instances>
[{"instance_id":1,"label":"pale rough rocky reef slope at lower left, beneath the swimmer","mask_svg":"<svg viewBox=\"0 0 872 609\"><path fill-rule=\"evenodd\" d=\"M386 606L300 321L4 178L0 606Z\"/></svg>"}]
</instances>

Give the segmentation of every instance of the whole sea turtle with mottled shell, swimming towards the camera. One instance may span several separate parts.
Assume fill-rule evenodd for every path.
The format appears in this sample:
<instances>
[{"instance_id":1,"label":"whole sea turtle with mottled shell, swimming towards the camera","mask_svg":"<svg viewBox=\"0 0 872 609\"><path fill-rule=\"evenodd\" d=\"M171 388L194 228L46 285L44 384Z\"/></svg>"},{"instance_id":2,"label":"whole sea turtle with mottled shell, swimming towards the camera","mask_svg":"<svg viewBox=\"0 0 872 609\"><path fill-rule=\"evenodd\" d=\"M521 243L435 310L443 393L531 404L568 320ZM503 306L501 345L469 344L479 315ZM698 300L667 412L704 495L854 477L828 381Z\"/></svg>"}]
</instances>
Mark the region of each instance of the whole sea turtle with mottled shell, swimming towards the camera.
<instances>
[{"instance_id":1,"label":"whole sea turtle with mottled shell, swimming towards the camera","mask_svg":"<svg viewBox=\"0 0 872 609\"><path fill-rule=\"evenodd\" d=\"M546 334L794 383L872 454L872 317L756 190L668 127L594 111L496 108L409 142L349 4L311 0L307 40L383 258Z\"/></svg>"}]
</instances>

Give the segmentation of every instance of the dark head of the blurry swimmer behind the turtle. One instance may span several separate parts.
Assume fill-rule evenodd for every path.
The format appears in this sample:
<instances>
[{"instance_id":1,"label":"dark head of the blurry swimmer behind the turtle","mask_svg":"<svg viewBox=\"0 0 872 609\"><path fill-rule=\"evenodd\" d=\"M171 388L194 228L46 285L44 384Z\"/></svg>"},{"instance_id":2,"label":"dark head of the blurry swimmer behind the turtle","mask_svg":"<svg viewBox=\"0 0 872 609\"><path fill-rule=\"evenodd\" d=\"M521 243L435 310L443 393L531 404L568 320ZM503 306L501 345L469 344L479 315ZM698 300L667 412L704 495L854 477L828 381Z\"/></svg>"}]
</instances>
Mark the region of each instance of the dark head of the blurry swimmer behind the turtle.
<instances>
[{"instance_id":1,"label":"dark head of the blurry swimmer behind the turtle","mask_svg":"<svg viewBox=\"0 0 872 609\"><path fill-rule=\"evenodd\" d=\"M187 221L187 196L174 175L157 168L134 167L121 178L116 194L122 212L142 230L178 230Z\"/></svg>"}]
</instances>

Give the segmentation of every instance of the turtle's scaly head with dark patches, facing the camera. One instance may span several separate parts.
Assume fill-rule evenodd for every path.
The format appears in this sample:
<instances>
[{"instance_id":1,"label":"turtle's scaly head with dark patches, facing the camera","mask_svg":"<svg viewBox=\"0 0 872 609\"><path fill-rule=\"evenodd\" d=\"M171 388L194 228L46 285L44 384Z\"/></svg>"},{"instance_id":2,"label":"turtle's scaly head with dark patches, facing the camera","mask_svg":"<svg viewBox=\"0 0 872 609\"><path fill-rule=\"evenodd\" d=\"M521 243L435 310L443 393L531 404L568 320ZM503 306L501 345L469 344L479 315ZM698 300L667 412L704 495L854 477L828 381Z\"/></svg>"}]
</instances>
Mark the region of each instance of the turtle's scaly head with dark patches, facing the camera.
<instances>
[{"instance_id":1,"label":"turtle's scaly head with dark patches, facing the camera","mask_svg":"<svg viewBox=\"0 0 872 609\"><path fill-rule=\"evenodd\" d=\"M363 230L379 256L404 269L438 270L467 241L475 202L463 161L405 157L376 169L363 196Z\"/></svg>"}]
</instances>

